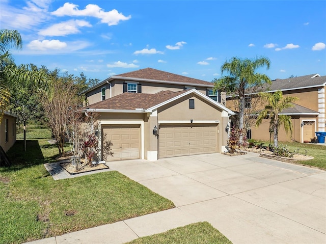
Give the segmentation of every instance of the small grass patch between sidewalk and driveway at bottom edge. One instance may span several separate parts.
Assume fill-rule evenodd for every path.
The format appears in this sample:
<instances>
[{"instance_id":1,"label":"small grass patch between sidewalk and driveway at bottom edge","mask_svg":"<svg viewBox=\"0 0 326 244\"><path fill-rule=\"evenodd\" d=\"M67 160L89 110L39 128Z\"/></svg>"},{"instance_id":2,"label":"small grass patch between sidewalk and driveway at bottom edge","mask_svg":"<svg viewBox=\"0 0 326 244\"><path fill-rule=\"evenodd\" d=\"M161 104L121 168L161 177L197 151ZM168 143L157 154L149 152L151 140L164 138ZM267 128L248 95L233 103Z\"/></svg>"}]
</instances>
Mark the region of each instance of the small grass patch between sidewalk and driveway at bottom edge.
<instances>
[{"instance_id":1,"label":"small grass patch between sidewalk and driveway at bottom edge","mask_svg":"<svg viewBox=\"0 0 326 244\"><path fill-rule=\"evenodd\" d=\"M145 236L127 244L193 244L193 243L207 243L207 244L230 244L232 243L221 232L213 228L207 222L199 222L184 227L169 230L164 233Z\"/></svg>"}]
</instances>

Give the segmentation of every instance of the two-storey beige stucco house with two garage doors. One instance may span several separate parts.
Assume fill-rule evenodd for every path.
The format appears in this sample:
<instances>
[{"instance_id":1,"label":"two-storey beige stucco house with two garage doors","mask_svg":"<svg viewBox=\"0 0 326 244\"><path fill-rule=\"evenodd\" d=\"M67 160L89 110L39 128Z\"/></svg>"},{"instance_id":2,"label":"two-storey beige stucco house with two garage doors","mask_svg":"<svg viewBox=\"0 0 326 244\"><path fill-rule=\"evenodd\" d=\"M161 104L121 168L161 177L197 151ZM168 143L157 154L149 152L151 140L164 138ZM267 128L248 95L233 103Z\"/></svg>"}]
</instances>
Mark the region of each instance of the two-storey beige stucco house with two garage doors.
<instances>
[{"instance_id":1,"label":"two-storey beige stucco house with two garage doors","mask_svg":"<svg viewBox=\"0 0 326 244\"><path fill-rule=\"evenodd\" d=\"M226 151L232 111L203 80L151 68L111 76L85 91L84 112L99 113L102 160L147 159Z\"/></svg>"}]
</instances>

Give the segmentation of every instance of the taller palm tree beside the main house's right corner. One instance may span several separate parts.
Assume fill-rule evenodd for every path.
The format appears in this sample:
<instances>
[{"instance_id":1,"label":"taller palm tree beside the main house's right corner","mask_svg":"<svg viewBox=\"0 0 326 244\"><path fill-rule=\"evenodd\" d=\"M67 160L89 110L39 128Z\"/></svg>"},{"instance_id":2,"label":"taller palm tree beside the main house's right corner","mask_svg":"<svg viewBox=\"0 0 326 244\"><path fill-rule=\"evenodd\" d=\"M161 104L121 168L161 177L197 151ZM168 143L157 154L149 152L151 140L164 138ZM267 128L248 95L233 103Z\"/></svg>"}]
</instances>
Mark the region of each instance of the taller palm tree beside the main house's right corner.
<instances>
[{"instance_id":1,"label":"taller palm tree beside the main house's right corner","mask_svg":"<svg viewBox=\"0 0 326 244\"><path fill-rule=\"evenodd\" d=\"M257 69L266 66L269 69L270 61L266 57L256 59L240 59L233 57L221 66L221 73L227 72L229 75L222 76L220 79L213 80L215 90L223 90L227 94L232 94L238 99L237 110L239 112L238 128L242 133L239 135L239 142L243 141L244 128L244 109L245 97L250 88L261 87L270 84L270 78L261 73L255 72Z\"/></svg>"}]
</instances>

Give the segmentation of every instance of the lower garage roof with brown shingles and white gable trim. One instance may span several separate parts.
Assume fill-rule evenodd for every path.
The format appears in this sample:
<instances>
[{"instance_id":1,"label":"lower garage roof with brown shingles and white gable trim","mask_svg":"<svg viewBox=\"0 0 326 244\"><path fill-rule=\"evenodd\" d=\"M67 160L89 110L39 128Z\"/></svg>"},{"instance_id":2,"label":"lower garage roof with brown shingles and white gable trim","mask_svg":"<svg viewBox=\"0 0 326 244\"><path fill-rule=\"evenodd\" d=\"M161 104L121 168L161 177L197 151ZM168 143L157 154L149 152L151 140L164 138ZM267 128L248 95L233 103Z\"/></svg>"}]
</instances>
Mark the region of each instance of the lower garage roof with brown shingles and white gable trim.
<instances>
[{"instance_id":1,"label":"lower garage roof with brown shingles and white gable trim","mask_svg":"<svg viewBox=\"0 0 326 244\"><path fill-rule=\"evenodd\" d=\"M231 110L227 109L227 107L207 97L196 89L183 90L179 92L160 91L155 94L125 92L112 98L108 98L104 101L96 102L86 106L83 108L83 111L113 113L151 113L158 107L168 104L191 93L202 97L209 103L219 107L229 114L233 113Z\"/></svg>"}]
</instances>

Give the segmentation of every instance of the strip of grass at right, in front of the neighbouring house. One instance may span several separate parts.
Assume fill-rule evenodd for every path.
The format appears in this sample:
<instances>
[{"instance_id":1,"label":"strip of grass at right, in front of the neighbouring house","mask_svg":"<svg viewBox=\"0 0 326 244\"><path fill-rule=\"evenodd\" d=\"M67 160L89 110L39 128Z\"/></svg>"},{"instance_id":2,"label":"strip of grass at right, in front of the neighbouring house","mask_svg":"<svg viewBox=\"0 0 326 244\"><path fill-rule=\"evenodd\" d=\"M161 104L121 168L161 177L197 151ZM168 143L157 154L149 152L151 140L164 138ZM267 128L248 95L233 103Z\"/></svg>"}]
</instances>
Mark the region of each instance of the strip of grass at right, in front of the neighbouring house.
<instances>
[{"instance_id":1,"label":"strip of grass at right, in front of the neighbouring house","mask_svg":"<svg viewBox=\"0 0 326 244\"><path fill-rule=\"evenodd\" d=\"M265 146L268 146L268 144L269 142L264 142ZM279 145L286 146L291 152L297 152L297 149L299 149L299 153L301 154L305 154L305 150L307 150L307 155L313 156L314 158L311 160L298 161L298 163L326 170L326 146L299 142L279 142Z\"/></svg>"}]
</instances>

